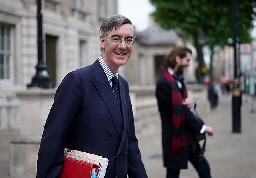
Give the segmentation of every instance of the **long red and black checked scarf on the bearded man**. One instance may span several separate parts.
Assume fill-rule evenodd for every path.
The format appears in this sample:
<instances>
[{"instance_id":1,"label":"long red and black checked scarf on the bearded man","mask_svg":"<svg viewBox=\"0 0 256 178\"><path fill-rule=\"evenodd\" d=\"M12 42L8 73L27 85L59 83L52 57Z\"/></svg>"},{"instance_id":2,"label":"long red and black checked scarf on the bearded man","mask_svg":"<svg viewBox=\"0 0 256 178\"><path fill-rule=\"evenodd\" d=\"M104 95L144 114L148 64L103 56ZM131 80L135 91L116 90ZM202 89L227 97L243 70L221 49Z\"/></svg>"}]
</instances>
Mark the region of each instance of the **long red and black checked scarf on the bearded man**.
<instances>
[{"instance_id":1,"label":"long red and black checked scarf on the bearded man","mask_svg":"<svg viewBox=\"0 0 256 178\"><path fill-rule=\"evenodd\" d=\"M184 131L184 114L183 114L183 105L182 99L187 98L187 90L184 89L184 95L180 94L176 80L168 72L168 69L162 67L162 75L170 82L172 88L172 154L177 154L181 151L181 148L187 146L186 136Z\"/></svg>"}]
</instances>

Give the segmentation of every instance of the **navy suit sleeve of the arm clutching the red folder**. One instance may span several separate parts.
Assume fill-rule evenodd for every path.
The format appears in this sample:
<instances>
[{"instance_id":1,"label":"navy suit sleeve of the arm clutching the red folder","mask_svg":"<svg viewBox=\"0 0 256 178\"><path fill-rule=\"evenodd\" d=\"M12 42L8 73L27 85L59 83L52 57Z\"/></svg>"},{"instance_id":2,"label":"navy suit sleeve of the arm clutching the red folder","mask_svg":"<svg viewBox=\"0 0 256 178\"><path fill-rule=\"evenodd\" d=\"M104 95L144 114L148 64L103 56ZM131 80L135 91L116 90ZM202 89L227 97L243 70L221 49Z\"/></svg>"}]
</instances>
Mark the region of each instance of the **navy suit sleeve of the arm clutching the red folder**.
<instances>
[{"instance_id":1,"label":"navy suit sleeve of the arm clutching the red folder","mask_svg":"<svg viewBox=\"0 0 256 178\"><path fill-rule=\"evenodd\" d=\"M81 82L76 73L64 77L56 91L38 152L37 178L57 178L64 162L64 148L70 127L80 109Z\"/></svg>"}]
</instances>

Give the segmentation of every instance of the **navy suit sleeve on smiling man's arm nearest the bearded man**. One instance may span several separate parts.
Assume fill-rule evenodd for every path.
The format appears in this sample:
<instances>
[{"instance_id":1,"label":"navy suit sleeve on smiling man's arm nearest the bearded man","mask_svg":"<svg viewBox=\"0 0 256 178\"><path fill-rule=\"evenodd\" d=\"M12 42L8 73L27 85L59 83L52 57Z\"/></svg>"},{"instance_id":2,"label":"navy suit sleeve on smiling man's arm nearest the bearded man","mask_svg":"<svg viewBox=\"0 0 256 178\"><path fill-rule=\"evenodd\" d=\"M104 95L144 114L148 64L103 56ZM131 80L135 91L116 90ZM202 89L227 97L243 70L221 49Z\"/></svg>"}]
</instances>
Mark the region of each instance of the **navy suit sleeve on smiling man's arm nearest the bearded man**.
<instances>
[{"instance_id":1,"label":"navy suit sleeve on smiling man's arm nearest the bearded man","mask_svg":"<svg viewBox=\"0 0 256 178\"><path fill-rule=\"evenodd\" d=\"M128 86L128 83L126 83ZM129 88L127 87L127 93ZM132 105L130 96L128 97L129 109L129 129L128 129L128 150L127 150L127 161L128 161L128 176L129 178L148 178L144 164L142 163L140 150L138 147L138 140L135 135L134 117L132 112Z\"/></svg>"}]
</instances>

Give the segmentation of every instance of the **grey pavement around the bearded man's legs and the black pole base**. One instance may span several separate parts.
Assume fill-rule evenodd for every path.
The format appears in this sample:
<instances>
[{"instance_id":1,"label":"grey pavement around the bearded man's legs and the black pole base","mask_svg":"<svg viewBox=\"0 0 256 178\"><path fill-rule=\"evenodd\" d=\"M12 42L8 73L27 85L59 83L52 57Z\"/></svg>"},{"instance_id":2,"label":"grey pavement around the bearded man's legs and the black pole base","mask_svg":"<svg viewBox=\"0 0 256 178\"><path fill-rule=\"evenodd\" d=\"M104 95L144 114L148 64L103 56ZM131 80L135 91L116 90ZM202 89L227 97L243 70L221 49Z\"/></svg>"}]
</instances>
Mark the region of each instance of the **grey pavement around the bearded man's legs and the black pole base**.
<instances>
[{"instance_id":1,"label":"grey pavement around the bearded man's legs and the black pole base","mask_svg":"<svg viewBox=\"0 0 256 178\"><path fill-rule=\"evenodd\" d=\"M198 111L214 136L207 138L205 156L210 163L213 178L256 178L256 113L251 114L250 103L243 102L242 133L232 133L231 99L220 98L216 111ZM154 131L138 137L142 160L149 178L165 178L162 162L159 115L154 116ZM182 170L180 178L198 178L191 164Z\"/></svg>"}]
</instances>

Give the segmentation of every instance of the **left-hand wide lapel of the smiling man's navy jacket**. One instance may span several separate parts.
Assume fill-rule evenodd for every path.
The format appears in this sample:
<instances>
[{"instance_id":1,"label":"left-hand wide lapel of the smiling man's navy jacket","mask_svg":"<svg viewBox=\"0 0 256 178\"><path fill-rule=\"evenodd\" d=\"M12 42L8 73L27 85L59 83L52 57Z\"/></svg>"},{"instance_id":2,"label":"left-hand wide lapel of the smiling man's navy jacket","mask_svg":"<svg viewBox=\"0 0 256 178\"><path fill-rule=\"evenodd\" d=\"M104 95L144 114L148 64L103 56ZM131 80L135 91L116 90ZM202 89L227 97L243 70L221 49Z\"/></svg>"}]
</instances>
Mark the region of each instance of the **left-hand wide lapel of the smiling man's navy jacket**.
<instances>
[{"instance_id":1,"label":"left-hand wide lapel of the smiling man's navy jacket","mask_svg":"<svg viewBox=\"0 0 256 178\"><path fill-rule=\"evenodd\" d=\"M114 96L114 93L108 82L106 74L104 73L103 68L101 67L98 60L92 64L92 68L95 75L94 85L96 86L96 89L100 93L102 100L106 104L106 107L108 108L108 111L110 112L110 115L112 117L116 131L119 137L121 138L122 127L118 127L118 126L123 124L121 119L122 116L119 112L119 109L117 109L118 104Z\"/></svg>"}]
</instances>

